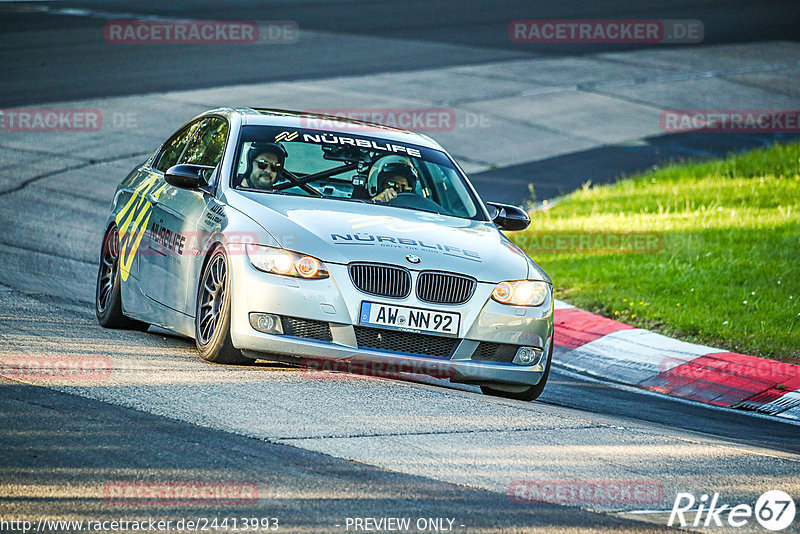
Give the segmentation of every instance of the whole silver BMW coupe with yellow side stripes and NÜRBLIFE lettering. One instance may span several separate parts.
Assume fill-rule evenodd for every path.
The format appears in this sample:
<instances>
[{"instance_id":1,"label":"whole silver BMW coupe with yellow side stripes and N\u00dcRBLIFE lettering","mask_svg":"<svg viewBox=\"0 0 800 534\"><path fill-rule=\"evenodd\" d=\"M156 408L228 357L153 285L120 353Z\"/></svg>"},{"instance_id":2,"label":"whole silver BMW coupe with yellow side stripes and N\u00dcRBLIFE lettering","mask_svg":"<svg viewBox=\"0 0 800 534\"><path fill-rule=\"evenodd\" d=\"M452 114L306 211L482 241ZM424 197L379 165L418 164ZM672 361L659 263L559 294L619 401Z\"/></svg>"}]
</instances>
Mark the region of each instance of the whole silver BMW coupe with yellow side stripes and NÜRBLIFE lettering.
<instances>
[{"instance_id":1,"label":"whole silver BMW coupe with yellow side stripes and N\u00dcRBLIFE lettering","mask_svg":"<svg viewBox=\"0 0 800 534\"><path fill-rule=\"evenodd\" d=\"M102 326L156 325L206 360L337 362L532 400L552 283L427 136L341 117L215 109L117 188ZM339 366L338 368L342 368Z\"/></svg>"}]
</instances>

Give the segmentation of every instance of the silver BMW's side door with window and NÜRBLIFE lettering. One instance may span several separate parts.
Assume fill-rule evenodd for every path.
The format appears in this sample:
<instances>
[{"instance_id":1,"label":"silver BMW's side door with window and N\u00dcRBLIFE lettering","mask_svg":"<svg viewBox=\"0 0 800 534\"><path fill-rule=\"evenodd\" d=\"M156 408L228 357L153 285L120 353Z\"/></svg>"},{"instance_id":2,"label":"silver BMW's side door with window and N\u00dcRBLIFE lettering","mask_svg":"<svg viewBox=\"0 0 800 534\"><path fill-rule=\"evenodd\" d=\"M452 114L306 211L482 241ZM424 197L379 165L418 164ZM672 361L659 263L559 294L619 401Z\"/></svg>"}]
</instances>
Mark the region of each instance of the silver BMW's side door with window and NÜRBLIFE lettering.
<instances>
[{"instance_id":1,"label":"silver BMW's side door with window and N\u00dcRBLIFE lettering","mask_svg":"<svg viewBox=\"0 0 800 534\"><path fill-rule=\"evenodd\" d=\"M228 131L228 122L222 117L203 119L177 164L216 167L222 159ZM168 168L160 167L159 171L165 172ZM211 174L209 171L207 180ZM207 191L166 184L158 196L150 221L149 296L186 315L194 315L190 308L193 307L196 288L190 280L190 273L194 270L194 252L206 237L205 232L198 232L198 222L210 200L213 197ZM188 296L190 292L191 298Z\"/></svg>"}]
</instances>

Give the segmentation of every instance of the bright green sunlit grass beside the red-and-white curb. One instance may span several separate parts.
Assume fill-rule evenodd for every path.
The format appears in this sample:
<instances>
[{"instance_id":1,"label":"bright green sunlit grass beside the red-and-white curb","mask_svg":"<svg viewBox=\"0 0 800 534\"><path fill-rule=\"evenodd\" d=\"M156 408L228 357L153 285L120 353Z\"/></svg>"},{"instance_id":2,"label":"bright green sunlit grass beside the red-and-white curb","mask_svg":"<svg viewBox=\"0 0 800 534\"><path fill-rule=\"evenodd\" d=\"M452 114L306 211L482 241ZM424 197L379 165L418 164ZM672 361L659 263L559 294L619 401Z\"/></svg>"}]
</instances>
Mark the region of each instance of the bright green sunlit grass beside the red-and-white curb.
<instances>
[{"instance_id":1,"label":"bright green sunlit grass beside the red-and-white curb","mask_svg":"<svg viewBox=\"0 0 800 534\"><path fill-rule=\"evenodd\" d=\"M542 253L542 234L656 232L656 253ZM570 194L511 238L556 297L694 343L800 361L800 144Z\"/></svg>"}]
</instances>

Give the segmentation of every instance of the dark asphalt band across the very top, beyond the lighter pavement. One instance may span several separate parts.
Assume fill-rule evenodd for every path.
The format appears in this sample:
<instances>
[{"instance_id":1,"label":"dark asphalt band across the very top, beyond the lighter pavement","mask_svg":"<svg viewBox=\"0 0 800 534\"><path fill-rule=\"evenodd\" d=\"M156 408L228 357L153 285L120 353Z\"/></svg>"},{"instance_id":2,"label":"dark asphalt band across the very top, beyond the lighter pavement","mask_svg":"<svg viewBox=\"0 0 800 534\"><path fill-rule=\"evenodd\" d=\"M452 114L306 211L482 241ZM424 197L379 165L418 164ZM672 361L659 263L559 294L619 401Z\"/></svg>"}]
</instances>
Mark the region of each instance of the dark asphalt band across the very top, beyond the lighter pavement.
<instances>
[{"instance_id":1,"label":"dark asphalt band across the very top, beyond the lighter pavement","mask_svg":"<svg viewBox=\"0 0 800 534\"><path fill-rule=\"evenodd\" d=\"M83 10L83 11L82 11ZM699 19L704 43L797 37L800 6L768 2L635 0L484 2L30 2L0 3L0 64L4 106L138 94L150 91L352 76L497 59L628 50L630 45L552 44L532 49L511 43L514 19ZM162 18L292 20L320 32L292 46L175 46L120 51L103 46L108 20ZM101 31L98 31L101 30ZM13 37L12 35L13 34ZM123 47L125 48L125 47ZM13 53L12 53L13 51Z\"/></svg>"}]
</instances>

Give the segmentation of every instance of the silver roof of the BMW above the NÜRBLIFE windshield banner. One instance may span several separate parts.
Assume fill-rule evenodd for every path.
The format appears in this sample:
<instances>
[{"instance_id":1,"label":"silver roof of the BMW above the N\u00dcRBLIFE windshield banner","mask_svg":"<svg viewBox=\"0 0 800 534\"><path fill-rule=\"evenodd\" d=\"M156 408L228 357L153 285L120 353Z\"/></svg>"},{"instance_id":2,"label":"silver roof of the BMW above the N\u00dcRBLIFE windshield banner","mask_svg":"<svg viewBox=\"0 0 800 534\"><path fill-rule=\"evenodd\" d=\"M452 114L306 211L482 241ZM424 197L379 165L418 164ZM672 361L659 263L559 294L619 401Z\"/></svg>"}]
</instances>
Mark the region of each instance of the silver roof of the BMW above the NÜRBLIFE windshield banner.
<instances>
[{"instance_id":1,"label":"silver roof of the BMW above the N\u00dcRBLIFE windshield banner","mask_svg":"<svg viewBox=\"0 0 800 534\"><path fill-rule=\"evenodd\" d=\"M286 128L307 128L342 134L356 134L363 137L376 137L444 151L439 143L427 135L337 115L268 108L221 108L207 113L236 114L241 117L243 125L283 126ZM347 125L363 126L365 128L364 131L359 131L358 128L348 128Z\"/></svg>"}]
</instances>

